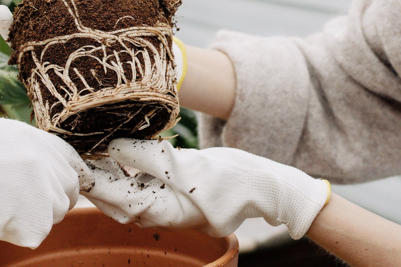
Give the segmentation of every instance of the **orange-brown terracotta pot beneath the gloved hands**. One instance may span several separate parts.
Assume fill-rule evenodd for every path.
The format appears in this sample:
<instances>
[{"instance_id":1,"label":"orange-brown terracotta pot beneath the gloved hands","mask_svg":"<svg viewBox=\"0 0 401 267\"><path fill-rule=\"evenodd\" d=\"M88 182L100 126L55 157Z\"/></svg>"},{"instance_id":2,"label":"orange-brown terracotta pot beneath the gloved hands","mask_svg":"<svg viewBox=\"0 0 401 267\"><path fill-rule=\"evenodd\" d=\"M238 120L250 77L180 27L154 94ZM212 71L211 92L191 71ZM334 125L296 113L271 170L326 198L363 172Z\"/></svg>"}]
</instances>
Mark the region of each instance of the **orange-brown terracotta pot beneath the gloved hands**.
<instances>
[{"instance_id":1,"label":"orange-brown terracotta pot beneath the gloved hands","mask_svg":"<svg viewBox=\"0 0 401 267\"><path fill-rule=\"evenodd\" d=\"M35 250L0 241L1 267L237 267L235 235L122 225L96 208L73 209Z\"/></svg>"}]
</instances>

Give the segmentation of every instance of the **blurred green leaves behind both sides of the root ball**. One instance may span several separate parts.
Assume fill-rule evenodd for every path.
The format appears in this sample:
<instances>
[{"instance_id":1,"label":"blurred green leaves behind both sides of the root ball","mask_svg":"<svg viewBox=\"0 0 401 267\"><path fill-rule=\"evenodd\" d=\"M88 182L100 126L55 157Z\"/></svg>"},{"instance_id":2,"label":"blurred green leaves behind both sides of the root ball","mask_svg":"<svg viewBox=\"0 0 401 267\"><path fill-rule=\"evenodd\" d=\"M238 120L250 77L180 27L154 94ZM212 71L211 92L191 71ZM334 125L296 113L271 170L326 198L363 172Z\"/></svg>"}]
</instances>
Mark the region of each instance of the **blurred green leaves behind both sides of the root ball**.
<instances>
[{"instance_id":1,"label":"blurred green leaves behind both sides of the root ball","mask_svg":"<svg viewBox=\"0 0 401 267\"><path fill-rule=\"evenodd\" d=\"M0 0L13 12L20 0ZM30 123L31 102L26 94L24 85L18 80L18 69L7 65L12 50L0 36L0 116L21 120ZM174 128L162 132L162 137L178 135L170 139L175 147L199 148L198 135L196 131L196 115L192 110L181 108L181 120ZM34 124L34 122L32 122Z\"/></svg>"}]
</instances>

